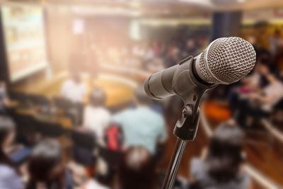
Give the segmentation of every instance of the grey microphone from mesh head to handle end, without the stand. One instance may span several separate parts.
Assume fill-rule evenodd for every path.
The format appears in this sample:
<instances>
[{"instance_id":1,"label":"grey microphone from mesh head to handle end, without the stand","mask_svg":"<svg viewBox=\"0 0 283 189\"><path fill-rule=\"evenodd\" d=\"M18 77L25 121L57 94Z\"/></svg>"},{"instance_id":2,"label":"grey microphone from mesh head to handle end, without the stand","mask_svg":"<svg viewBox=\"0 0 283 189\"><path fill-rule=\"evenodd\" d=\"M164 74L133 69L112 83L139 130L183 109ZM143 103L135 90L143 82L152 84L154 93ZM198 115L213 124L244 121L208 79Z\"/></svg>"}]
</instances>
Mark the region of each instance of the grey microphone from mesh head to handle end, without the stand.
<instances>
[{"instance_id":1,"label":"grey microphone from mesh head to handle end, without the stand","mask_svg":"<svg viewBox=\"0 0 283 189\"><path fill-rule=\"evenodd\" d=\"M154 99L179 95L185 102L190 88L212 88L232 84L255 66L253 45L242 38L218 38L197 55L147 77L144 91Z\"/></svg>"}]
</instances>

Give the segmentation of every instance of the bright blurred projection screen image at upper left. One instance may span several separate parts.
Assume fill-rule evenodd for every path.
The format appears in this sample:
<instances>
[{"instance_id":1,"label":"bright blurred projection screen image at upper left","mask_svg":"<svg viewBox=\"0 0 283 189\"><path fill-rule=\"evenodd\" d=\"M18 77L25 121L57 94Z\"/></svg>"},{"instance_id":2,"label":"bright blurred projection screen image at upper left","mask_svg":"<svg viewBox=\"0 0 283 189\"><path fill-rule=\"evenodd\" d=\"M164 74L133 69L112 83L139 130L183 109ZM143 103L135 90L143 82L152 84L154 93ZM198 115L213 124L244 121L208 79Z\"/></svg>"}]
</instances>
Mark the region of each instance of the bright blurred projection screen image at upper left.
<instances>
[{"instance_id":1,"label":"bright blurred projection screen image at upper left","mask_svg":"<svg viewBox=\"0 0 283 189\"><path fill-rule=\"evenodd\" d=\"M10 80L17 81L47 66L42 8L1 8Z\"/></svg>"}]
</instances>

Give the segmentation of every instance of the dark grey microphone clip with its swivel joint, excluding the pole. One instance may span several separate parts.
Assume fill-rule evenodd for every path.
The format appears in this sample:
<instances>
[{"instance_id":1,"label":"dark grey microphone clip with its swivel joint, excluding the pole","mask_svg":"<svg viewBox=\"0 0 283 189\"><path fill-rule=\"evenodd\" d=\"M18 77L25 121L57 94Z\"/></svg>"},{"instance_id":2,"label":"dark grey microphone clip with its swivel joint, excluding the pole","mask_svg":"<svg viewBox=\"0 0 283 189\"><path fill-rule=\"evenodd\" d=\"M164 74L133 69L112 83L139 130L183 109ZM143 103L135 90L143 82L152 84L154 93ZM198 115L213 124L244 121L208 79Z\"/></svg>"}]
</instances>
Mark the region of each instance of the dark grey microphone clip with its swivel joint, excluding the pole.
<instances>
[{"instance_id":1,"label":"dark grey microphone clip with its swivel joint, excluding the pole","mask_svg":"<svg viewBox=\"0 0 283 189\"><path fill-rule=\"evenodd\" d=\"M185 105L173 133L183 141L192 141L200 122L199 105L202 96L218 84L206 84L197 79L193 71L193 57L187 57L179 65L173 76L173 91L183 99Z\"/></svg>"}]
</instances>

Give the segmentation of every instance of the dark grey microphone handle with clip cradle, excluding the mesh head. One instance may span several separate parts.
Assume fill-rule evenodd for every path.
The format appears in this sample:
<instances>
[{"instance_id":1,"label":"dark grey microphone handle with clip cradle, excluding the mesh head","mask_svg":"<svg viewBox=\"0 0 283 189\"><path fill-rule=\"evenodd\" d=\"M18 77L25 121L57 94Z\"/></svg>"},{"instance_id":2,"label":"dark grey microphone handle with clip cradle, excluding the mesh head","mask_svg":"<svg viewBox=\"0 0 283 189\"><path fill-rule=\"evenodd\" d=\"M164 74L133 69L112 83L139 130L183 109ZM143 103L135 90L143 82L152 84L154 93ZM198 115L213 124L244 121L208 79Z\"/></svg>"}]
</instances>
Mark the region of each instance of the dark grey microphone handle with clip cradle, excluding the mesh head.
<instances>
[{"instance_id":1,"label":"dark grey microphone handle with clip cradle, excluding the mesh head","mask_svg":"<svg viewBox=\"0 0 283 189\"><path fill-rule=\"evenodd\" d=\"M208 84L195 75L195 59L190 56L179 64L147 77L144 91L155 100L178 95L185 104L197 101L202 93L217 84Z\"/></svg>"}]
</instances>

